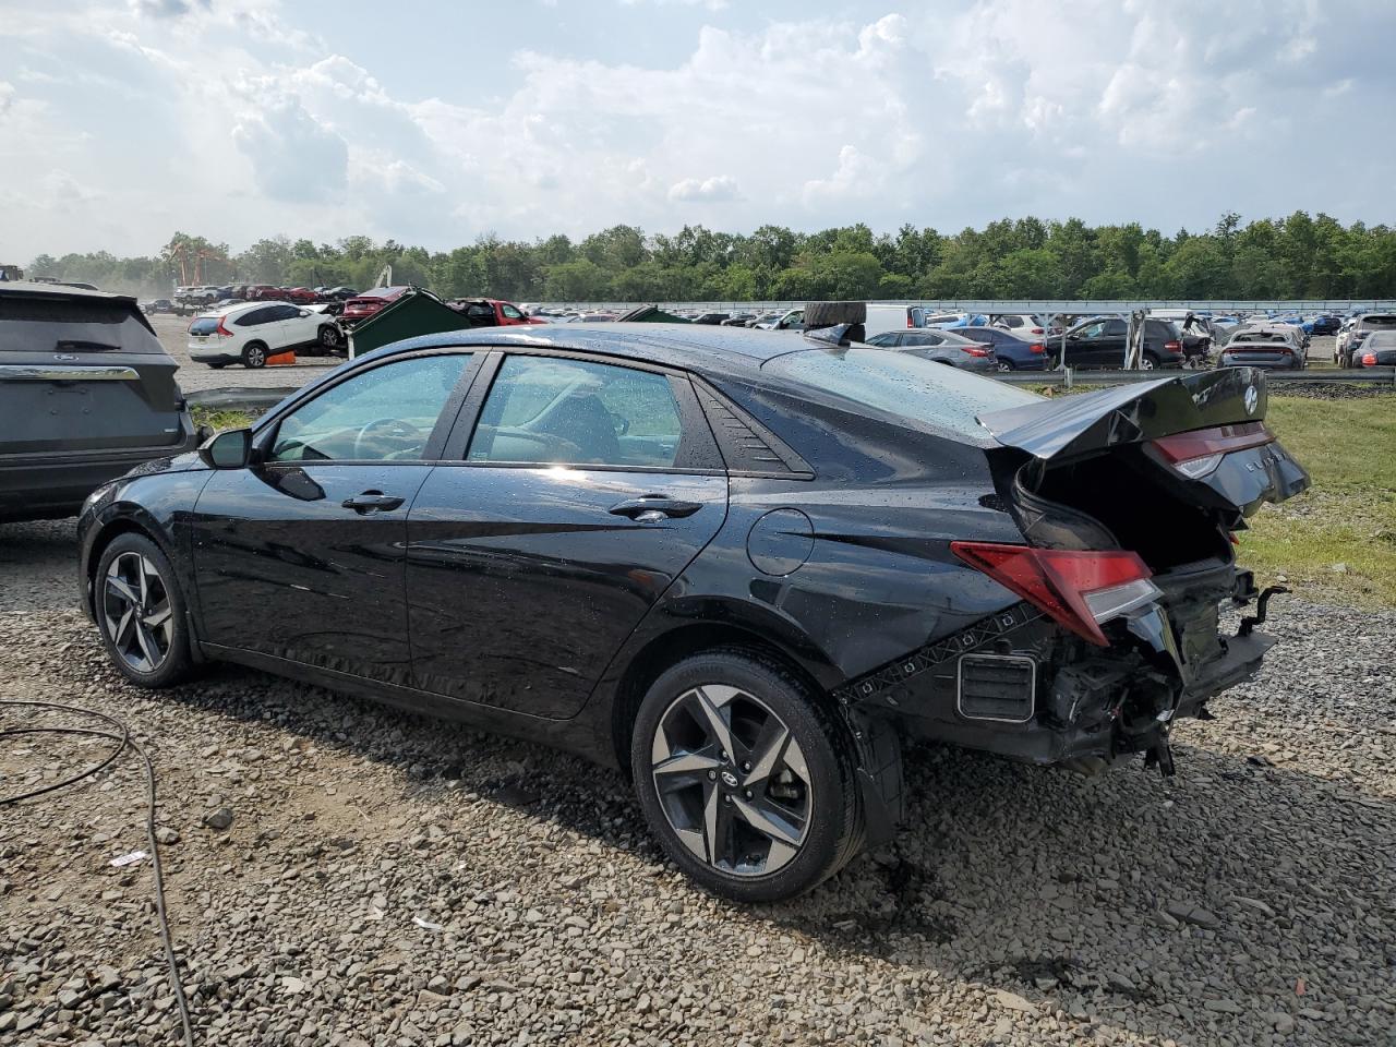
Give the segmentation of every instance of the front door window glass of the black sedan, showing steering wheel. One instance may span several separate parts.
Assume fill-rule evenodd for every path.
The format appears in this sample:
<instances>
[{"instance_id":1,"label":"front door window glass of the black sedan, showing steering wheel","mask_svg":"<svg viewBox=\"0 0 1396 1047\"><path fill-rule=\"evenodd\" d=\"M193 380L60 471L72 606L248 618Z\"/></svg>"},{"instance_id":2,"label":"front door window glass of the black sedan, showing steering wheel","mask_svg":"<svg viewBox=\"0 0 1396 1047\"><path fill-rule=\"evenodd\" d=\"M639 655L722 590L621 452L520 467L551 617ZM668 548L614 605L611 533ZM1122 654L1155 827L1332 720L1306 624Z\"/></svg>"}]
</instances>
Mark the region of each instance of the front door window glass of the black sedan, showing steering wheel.
<instances>
[{"instance_id":1,"label":"front door window glass of the black sedan, showing steering wheel","mask_svg":"<svg viewBox=\"0 0 1396 1047\"><path fill-rule=\"evenodd\" d=\"M416 462L469 353L417 356L373 367L281 420L272 462Z\"/></svg>"}]
</instances>

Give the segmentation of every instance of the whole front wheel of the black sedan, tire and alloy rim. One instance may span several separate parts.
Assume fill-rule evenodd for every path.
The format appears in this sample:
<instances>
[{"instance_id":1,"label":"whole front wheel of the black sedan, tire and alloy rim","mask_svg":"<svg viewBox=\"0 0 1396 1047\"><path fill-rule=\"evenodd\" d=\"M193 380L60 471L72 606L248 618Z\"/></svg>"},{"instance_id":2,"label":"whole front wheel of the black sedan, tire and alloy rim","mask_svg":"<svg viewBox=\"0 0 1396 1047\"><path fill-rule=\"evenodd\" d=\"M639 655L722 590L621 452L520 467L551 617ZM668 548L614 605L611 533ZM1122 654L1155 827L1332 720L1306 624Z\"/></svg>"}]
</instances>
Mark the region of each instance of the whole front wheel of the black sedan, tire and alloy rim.
<instances>
[{"instance_id":1,"label":"whole front wheel of the black sedan, tire and alloy rim","mask_svg":"<svg viewBox=\"0 0 1396 1047\"><path fill-rule=\"evenodd\" d=\"M133 684L155 690L191 676L184 593L169 558L145 535L120 535L102 551L92 607L107 656Z\"/></svg>"}]
</instances>

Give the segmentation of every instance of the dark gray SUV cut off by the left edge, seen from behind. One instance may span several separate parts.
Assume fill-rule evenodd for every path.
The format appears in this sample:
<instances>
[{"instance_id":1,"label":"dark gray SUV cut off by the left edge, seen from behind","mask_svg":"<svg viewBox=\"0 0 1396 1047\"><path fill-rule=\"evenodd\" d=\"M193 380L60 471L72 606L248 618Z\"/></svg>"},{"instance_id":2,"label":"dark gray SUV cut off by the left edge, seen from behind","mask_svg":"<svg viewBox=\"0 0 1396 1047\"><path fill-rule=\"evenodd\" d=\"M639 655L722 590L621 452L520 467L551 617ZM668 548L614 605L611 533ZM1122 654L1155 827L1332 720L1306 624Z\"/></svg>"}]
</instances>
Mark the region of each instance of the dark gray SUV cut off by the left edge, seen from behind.
<instances>
[{"instance_id":1,"label":"dark gray SUV cut off by the left edge, seen from behind","mask_svg":"<svg viewBox=\"0 0 1396 1047\"><path fill-rule=\"evenodd\" d=\"M135 299L0 282L0 521L77 512L195 444L177 364Z\"/></svg>"}]
</instances>

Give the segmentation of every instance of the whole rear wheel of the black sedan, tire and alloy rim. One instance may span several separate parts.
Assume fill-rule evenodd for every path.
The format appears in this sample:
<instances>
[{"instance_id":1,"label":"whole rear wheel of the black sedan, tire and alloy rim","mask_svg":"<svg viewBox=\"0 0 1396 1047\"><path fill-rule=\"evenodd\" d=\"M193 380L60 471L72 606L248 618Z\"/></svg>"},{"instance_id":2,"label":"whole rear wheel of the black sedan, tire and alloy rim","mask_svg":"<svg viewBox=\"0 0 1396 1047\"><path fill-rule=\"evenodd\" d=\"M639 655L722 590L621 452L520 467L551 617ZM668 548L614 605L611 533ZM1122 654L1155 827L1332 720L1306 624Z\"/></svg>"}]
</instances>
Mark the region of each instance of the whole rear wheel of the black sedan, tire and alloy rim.
<instances>
[{"instance_id":1,"label":"whole rear wheel of the black sedan, tire and alloy rim","mask_svg":"<svg viewBox=\"0 0 1396 1047\"><path fill-rule=\"evenodd\" d=\"M786 745L764 744L780 730ZM674 759L685 762L656 773ZM641 702L631 769L669 857L734 902L810 891L863 845L852 743L796 676L755 652L713 651L663 673Z\"/></svg>"}]
</instances>

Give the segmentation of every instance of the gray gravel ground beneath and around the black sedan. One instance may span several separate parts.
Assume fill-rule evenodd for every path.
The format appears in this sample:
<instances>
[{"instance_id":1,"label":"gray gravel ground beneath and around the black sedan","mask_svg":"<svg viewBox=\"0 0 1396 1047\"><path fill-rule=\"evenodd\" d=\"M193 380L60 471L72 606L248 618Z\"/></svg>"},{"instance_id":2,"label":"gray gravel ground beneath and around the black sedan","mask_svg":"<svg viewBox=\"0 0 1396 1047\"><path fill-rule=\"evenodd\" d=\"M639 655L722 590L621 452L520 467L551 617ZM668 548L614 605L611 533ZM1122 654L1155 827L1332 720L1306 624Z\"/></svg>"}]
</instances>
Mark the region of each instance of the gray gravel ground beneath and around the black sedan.
<instances>
[{"instance_id":1,"label":"gray gravel ground beneath and around the black sedan","mask_svg":"<svg viewBox=\"0 0 1396 1047\"><path fill-rule=\"evenodd\" d=\"M155 758L201 1043L1390 1043L1390 611L1277 599L1173 780L921 751L895 846L743 909L617 773L244 670L119 683L64 533L0 526L0 671ZM7 741L0 793L99 751ZM174 1041L149 863L109 866L141 817L134 762L0 817L0 1043Z\"/></svg>"}]
</instances>

